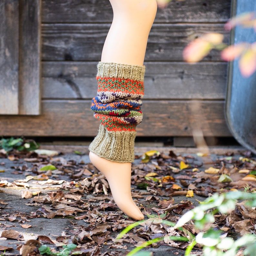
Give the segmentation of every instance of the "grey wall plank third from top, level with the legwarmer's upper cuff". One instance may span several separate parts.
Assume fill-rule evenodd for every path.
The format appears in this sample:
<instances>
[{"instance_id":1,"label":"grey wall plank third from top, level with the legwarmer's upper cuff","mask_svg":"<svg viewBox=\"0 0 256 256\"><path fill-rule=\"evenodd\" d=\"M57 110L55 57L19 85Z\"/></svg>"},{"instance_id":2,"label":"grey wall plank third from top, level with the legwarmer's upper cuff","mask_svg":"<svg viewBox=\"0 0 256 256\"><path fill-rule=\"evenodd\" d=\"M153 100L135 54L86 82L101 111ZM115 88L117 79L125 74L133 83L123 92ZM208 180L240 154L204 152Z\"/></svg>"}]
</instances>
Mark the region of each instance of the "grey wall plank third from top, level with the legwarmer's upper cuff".
<instances>
[{"instance_id":1,"label":"grey wall plank third from top, level with the legwarmer's upper cuff","mask_svg":"<svg viewBox=\"0 0 256 256\"><path fill-rule=\"evenodd\" d=\"M96 62L44 62L44 99L92 99ZM227 63L145 62L144 99L224 99ZM200 71L200 72L199 72Z\"/></svg>"}]
</instances>

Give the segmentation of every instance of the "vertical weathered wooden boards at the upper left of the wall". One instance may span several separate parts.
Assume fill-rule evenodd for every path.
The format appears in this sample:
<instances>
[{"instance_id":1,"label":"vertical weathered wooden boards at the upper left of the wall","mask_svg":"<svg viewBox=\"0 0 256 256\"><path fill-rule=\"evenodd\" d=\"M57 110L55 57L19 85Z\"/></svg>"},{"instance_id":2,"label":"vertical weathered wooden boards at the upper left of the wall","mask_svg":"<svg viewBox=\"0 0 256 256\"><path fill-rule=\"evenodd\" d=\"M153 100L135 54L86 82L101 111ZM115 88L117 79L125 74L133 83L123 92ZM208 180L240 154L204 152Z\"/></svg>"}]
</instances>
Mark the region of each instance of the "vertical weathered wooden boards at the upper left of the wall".
<instances>
[{"instance_id":1,"label":"vertical weathered wooden boards at the upper left of the wall","mask_svg":"<svg viewBox=\"0 0 256 256\"><path fill-rule=\"evenodd\" d=\"M0 114L41 113L41 0L1 0Z\"/></svg>"}]
</instances>

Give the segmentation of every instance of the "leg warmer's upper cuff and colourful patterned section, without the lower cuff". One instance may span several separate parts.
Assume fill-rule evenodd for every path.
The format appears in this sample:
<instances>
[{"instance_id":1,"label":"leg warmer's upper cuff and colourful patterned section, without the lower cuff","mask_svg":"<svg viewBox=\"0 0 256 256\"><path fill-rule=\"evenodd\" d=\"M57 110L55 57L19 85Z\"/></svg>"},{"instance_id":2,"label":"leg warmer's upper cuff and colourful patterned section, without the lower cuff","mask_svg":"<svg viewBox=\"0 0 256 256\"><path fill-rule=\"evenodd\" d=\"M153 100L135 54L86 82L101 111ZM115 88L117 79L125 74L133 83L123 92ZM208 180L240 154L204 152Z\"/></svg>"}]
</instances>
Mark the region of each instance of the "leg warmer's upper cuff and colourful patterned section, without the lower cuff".
<instances>
[{"instance_id":1,"label":"leg warmer's upper cuff and colourful patterned section, without the lower cuff","mask_svg":"<svg viewBox=\"0 0 256 256\"><path fill-rule=\"evenodd\" d=\"M91 109L108 131L135 131L142 122L143 66L98 64L97 96Z\"/></svg>"}]
</instances>

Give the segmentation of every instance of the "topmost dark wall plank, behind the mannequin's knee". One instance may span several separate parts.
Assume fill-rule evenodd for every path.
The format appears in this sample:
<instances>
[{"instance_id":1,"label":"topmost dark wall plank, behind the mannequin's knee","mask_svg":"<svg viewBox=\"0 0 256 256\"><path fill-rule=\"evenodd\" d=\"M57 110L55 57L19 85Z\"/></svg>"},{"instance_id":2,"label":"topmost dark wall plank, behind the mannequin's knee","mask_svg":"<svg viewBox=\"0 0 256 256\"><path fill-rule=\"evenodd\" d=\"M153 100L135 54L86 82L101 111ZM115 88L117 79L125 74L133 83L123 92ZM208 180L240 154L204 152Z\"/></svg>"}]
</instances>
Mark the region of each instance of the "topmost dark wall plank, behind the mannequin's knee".
<instances>
[{"instance_id":1,"label":"topmost dark wall plank, behind the mannequin's knee","mask_svg":"<svg viewBox=\"0 0 256 256\"><path fill-rule=\"evenodd\" d=\"M173 0L166 8L158 8L155 22L225 22L230 4L230 0ZM108 0L43 0L44 23L110 23L112 18Z\"/></svg>"}]
</instances>

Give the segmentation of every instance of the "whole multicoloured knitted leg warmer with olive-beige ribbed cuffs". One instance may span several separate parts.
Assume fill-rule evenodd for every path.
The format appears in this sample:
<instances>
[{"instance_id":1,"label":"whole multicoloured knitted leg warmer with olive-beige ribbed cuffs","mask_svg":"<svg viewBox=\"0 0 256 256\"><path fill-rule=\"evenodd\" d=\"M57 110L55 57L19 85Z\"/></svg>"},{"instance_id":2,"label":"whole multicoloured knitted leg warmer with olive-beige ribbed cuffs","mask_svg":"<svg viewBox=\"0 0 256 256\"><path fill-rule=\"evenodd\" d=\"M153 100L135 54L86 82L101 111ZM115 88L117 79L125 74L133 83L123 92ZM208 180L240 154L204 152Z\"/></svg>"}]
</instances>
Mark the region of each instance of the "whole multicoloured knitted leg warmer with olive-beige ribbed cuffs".
<instances>
[{"instance_id":1,"label":"whole multicoloured knitted leg warmer with olive-beige ribbed cuffs","mask_svg":"<svg viewBox=\"0 0 256 256\"><path fill-rule=\"evenodd\" d=\"M91 109L101 124L91 152L113 162L133 162L135 127L142 122L144 73L144 66L98 64L98 91Z\"/></svg>"}]
</instances>

